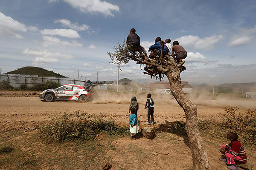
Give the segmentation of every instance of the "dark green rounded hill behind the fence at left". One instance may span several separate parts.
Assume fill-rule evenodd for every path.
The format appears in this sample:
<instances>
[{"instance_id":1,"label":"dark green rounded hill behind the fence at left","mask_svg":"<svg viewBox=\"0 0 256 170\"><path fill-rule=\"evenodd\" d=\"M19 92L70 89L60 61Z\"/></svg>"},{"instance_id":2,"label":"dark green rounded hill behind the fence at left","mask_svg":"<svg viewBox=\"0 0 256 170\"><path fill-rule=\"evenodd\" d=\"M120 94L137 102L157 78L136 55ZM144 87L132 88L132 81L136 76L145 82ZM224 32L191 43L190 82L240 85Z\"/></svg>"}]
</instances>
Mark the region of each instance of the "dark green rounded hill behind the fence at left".
<instances>
[{"instance_id":1,"label":"dark green rounded hill behind the fence at left","mask_svg":"<svg viewBox=\"0 0 256 170\"><path fill-rule=\"evenodd\" d=\"M5 74L38 75L39 77L65 77L40 67L23 67Z\"/></svg>"}]
</instances>

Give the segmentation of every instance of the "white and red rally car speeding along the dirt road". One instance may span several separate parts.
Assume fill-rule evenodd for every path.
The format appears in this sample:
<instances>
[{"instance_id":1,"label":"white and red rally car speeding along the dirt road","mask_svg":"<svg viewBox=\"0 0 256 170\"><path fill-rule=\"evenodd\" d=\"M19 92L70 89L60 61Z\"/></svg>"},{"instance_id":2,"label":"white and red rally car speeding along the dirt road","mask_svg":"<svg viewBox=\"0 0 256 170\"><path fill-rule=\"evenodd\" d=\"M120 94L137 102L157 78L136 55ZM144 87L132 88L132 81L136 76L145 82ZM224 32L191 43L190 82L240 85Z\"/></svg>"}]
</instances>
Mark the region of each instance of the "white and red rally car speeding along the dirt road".
<instances>
[{"instance_id":1,"label":"white and red rally car speeding along the dirt road","mask_svg":"<svg viewBox=\"0 0 256 170\"><path fill-rule=\"evenodd\" d=\"M47 102L52 102L54 100L79 100L85 102L87 98L91 97L89 90L91 86L85 87L82 85L62 85L61 87L55 89L47 89L43 91L39 99L45 99Z\"/></svg>"}]
</instances>

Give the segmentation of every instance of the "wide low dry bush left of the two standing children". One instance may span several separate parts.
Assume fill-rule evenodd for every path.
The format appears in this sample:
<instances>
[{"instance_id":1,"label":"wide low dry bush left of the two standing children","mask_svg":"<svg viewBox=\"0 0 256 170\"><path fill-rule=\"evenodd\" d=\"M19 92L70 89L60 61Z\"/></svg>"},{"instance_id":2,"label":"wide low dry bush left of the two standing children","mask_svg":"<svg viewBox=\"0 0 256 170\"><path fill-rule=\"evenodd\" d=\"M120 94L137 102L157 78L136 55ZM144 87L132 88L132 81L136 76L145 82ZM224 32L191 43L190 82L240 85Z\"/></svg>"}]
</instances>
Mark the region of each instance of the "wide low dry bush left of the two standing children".
<instances>
[{"instance_id":1,"label":"wide low dry bush left of the two standing children","mask_svg":"<svg viewBox=\"0 0 256 170\"><path fill-rule=\"evenodd\" d=\"M65 142L74 139L92 140L101 133L108 135L127 135L128 128L120 127L112 121L92 119L92 115L81 112L55 113L47 125L38 127L41 140L47 143ZM91 119L90 119L91 118Z\"/></svg>"}]
</instances>

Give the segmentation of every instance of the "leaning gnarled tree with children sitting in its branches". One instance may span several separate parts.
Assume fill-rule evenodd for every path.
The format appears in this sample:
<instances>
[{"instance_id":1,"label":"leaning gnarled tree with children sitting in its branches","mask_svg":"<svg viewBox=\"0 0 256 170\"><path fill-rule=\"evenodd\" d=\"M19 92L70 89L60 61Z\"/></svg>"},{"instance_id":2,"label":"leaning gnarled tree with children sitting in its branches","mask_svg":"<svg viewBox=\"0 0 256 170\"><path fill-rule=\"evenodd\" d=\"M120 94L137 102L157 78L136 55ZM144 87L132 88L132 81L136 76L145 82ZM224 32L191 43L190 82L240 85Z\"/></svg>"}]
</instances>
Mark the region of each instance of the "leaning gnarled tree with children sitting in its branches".
<instances>
[{"instance_id":1,"label":"leaning gnarled tree with children sitting in its branches","mask_svg":"<svg viewBox=\"0 0 256 170\"><path fill-rule=\"evenodd\" d=\"M135 61L137 64L144 64L144 74L148 74L156 79L161 79L166 75L170 82L170 90L176 101L183 108L186 114L186 132L189 138L189 146L193 158L193 170L211 170L207 150L204 147L204 142L200 136L198 129L197 106L193 104L184 94L181 88L180 72L186 70L184 66L177 67L175 60L168 55L163 55L164 42L161 53L157 50L154 52L153 58L148 58L140 51L133 51L130 46L118 43L118 47L114 46L114 52L108 52L112 63L128 63L129 60Z\"/></svg>"}]
</instances>

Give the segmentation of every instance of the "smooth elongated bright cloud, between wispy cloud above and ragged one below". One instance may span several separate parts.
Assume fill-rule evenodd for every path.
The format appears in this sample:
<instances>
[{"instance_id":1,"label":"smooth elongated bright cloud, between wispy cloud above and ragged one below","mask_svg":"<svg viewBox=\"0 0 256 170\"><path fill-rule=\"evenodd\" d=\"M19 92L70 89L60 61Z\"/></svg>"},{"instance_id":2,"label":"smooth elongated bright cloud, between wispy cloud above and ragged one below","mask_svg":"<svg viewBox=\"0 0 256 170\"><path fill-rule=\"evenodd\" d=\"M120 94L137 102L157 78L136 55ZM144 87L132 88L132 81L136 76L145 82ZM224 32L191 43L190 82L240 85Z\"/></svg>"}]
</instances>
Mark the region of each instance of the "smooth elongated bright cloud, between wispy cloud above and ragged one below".
<instances>
[{"instance_id":1,"label":"smooth elongated bright cloud, between wispy cloud above and ragged one below","mask_svg":"<svg viewBox=\"0 0 256 170\"><path fill-rule=\"evenodd\" d=\"M43 35L59 35L68 38L79 38L80 35L77 31L72 29L44 29L41 31Z\"/></svg>"}]
</instances>

